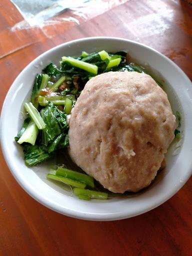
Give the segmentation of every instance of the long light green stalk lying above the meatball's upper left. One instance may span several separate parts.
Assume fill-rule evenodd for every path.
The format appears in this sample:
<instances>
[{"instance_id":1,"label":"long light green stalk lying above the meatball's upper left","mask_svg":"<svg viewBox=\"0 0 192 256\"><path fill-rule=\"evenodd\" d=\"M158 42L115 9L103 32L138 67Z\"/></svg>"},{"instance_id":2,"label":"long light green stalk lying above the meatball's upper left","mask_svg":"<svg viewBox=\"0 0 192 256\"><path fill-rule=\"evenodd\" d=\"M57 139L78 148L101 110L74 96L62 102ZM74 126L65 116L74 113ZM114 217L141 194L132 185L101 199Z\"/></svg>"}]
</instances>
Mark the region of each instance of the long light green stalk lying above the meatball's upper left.
<instances>
[{"instance_id":1,"label":"long light green stalk lying above the meatball's upper left","mask_svg":"<svg viewBox=\"0 0 192 256\"><path fill-rule=\"evenodd\" d=\"M63 62L68 62L73 66L76 66L78 68L81 68L83 70L88 71L89 73L93 73L93 74L97 74L98 71L98 67L94 64L91 63L87 63L75 58L71 58L71 57L62 57L62 61Z\"/></svg>"}]
</instances>

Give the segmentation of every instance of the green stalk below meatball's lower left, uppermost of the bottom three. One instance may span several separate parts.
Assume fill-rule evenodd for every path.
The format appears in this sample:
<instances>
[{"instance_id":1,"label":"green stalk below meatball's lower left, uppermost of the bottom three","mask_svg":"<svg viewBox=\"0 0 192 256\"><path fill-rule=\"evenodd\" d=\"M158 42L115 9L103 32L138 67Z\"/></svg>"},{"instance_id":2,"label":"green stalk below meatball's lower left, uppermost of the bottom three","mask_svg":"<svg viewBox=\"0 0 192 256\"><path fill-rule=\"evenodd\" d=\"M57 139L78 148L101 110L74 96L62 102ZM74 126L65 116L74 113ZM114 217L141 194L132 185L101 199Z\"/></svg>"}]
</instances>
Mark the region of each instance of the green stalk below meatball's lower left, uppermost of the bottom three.
<instances>
[{"instance_id":1,"label":"green stalk below meatball's lower left, uppermost of the bottom three","mask_svg":"<svg viewBox=\"0 0 192 256\"><path fill-rule=\"evenodd\" d=\"M87 186L94 187L94 180L91 176L88 176L86 174L83 174L74 170L58 167L56 170L56 175L71 178L71 179L83 182Z\"/></svg>"}]
</instances>

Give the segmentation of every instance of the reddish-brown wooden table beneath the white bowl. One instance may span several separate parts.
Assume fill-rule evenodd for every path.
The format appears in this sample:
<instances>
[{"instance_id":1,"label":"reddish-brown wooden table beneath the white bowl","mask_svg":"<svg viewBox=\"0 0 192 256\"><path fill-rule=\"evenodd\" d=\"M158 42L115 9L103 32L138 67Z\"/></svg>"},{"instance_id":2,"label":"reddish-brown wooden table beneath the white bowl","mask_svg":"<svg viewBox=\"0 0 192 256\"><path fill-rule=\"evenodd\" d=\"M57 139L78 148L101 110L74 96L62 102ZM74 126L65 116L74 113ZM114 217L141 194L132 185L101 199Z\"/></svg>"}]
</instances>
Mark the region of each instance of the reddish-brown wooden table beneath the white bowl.
<instances>
[{"instance_id":1,"label":"reddish-brown wooden table beneath the white bowl","mask_svg":"<svg viewBox=\"0 0 192 256\"><path fill-rule=\"evenodd\" d=\"M51 27L52 37L31 29L28 44L15 50L12 44L19 38L11 39L6 29L21 16L8 0L1 0L0 50L6 54L0 58L0 106L12 81L33 58L84 36L119 36L145 43L171 58L192 79L191 17L191 5L182 0L129 0L81 19L80 24L68 24L62 32ZM2 154L0 165L2 256L192 255L191 178L172 198L145 214L96 222L66 217L42 206L17 184Z\"/></svg>"}]
</instances>

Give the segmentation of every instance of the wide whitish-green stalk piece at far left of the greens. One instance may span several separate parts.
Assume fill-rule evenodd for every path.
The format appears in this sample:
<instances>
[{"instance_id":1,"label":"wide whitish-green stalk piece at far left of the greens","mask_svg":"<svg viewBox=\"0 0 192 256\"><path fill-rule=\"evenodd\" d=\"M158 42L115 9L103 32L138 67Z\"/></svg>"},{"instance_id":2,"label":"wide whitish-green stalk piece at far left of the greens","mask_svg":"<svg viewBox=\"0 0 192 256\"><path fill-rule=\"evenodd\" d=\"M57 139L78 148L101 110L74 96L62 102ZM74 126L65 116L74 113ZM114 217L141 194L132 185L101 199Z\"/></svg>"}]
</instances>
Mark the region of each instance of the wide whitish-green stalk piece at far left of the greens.
<instances>
[{"instance_id":1,"label":"wide whitish-green stalk piece at far left of the greens","mask_svg":"<svg viewBox=\"0 0 192 256\"><path fill-rule=\"evenodd\" d=\"M30 120L24 133L22 134L22 136L19 138L17 142L19 144L23 142L28 142L31 145L34 145L37 135L38 135L38 128L36 124L32 120Z\"/></svg>"}]
</instances>

